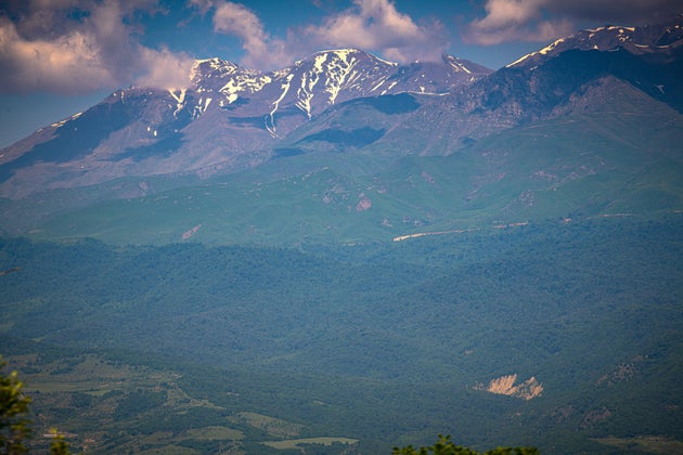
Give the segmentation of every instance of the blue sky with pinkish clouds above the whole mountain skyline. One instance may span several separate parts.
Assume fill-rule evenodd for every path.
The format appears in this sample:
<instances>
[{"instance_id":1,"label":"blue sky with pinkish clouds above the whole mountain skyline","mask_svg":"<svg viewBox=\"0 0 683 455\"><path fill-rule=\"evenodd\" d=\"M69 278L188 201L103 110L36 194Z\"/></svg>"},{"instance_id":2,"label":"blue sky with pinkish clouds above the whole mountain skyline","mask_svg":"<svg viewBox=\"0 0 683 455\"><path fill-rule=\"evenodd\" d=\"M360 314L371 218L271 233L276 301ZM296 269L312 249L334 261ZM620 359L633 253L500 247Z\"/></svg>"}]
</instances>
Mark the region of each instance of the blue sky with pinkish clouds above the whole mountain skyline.
<instances>
[{"instance_id":1,"label":"blue sky with pinkish clouds above the whole mountain skyline","mask_svg":"<svg viewBox=\"0 0 683 455\"><path fill-rule=\"evenodd\" d=\"M683 0L0 0L0 146L117 88L186 84L194 58L269 70L353 47L497 69L580 28L681 12Z\"/></svg>"}]
</instances>

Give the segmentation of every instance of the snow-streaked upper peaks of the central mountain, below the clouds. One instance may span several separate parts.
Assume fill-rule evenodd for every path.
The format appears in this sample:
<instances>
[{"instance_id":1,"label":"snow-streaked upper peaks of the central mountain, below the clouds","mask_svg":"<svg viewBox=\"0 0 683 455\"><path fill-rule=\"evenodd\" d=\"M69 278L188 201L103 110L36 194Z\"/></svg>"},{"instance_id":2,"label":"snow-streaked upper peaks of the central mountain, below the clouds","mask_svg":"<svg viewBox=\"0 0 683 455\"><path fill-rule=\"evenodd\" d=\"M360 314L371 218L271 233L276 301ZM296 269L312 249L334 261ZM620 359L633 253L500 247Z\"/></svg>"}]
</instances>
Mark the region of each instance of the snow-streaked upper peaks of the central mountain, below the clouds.
<instances>
[{"instance_id":1,"label":"snow-streaked upper peaks of the central mountain, below the clouds","mask_svg":"<svg viewBox=\"0 0 683 455\"><path fill-rule=\"evenodd\" d=\"M355 98L399 92L446 93L489 73L488 68L453 56L444 56L440 63L401 66L359 49L334 49L315 52L289 67L268 73L245 69L220 58L197 61L192 81L193 90L203 95L201 104L208 98L216 100L218 107L235 114L241 110L265 116L266 130L275 136L276 117L283 112L296 109L310 119L334 104ZM195 113L203 110L194 108Z\"/></svg>"}]
</instances>

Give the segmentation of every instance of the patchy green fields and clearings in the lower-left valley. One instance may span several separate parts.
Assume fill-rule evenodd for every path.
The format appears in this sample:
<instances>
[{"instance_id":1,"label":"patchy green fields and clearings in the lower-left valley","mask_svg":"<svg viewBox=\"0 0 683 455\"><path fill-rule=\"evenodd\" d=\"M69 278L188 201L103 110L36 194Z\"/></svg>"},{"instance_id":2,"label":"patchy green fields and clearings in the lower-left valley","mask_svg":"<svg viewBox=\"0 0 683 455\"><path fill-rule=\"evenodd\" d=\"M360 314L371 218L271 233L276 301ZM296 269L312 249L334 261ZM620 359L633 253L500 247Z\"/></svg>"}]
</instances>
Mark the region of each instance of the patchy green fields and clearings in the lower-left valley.
<instances>
[{"instance_id":1,"label":"patchy green fields and clearings in the lower-left valley","mask_svg":"<svg viewBox=\"0 0 683 455\"><path fill-rule=\"evenodd\" d=\"M232 414L206 398L194 398L178 382L183 375L175 372L113 362L96 354L57 359L22 354L7 360L14 369L29 372L23 375L24 390L40 413L35 420L37 433L47 432L59 420L76 448L106 452L111 448L106 441L114 438L117 451L134 453L197 454L209 450L207 443L244 453L241 442L245 433L239 427L263 431L270 438L296 437L304 428L253 412ZM160 401L155 402L154 396ZM203 420L194 416L206 413L228 414L222 418L228 425L202 426ZM172 431L154 430L164 427L155 424L164 419L179 424L170 424L176 427ZM98 424L93 426L93 421Z\"/></svg>"}]
</instances>

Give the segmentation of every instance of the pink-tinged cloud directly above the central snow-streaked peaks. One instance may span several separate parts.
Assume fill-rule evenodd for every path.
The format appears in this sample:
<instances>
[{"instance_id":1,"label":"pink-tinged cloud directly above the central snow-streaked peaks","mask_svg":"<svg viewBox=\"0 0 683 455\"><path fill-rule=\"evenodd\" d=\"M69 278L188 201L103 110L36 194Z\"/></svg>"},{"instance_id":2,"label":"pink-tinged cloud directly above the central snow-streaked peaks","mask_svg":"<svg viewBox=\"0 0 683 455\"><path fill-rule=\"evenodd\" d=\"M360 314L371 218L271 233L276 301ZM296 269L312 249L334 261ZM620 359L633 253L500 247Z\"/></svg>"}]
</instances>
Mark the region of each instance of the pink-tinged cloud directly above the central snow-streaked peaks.
<instances>
[{"instance_id":1,"label":"pink-tinged cloud directly above the central snow-streaked peaks","mask_svg":"<svg viewBox=\"0 0 683 455\"><path fill-rule=\"evenodd\" d=\"M322 49L360 48L400 63L438 60L448 49L438 21L418 25L390 0L353 0L351 8L317 25L289 28L285 39L272 37L257 14L241 3L190 0L203 14L214 11L214 30L237 37L245 51L243 66L273 69Z\"/></svg>"}]
</instances>

